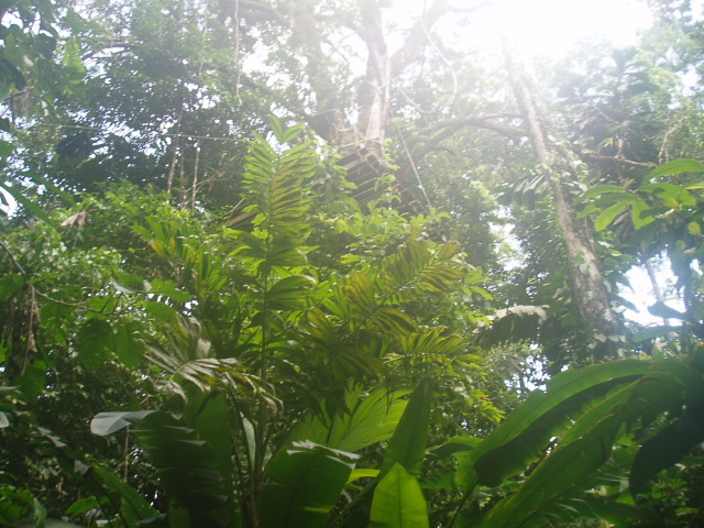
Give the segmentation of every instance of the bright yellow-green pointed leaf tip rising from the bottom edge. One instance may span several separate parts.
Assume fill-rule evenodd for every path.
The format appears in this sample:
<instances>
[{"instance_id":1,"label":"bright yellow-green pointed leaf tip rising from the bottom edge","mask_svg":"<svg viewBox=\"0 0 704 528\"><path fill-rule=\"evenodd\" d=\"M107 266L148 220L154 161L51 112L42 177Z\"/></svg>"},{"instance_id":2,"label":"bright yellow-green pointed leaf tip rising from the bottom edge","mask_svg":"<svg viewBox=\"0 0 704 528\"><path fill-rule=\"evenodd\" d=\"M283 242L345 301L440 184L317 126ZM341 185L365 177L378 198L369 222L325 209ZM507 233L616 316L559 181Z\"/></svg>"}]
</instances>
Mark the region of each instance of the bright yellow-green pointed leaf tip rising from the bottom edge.
<instances>
[{"instance_id":1,"label":"bright yellow-green pointed leaf tip rising from the bottom edge","mask_svg":"<svg viewBox=\"0 0 704 528\"><path fill-rule=\"evenodd\" d=\"M374 491L370 528L427 528L428 506L414 475L394 464Z\"/></svg>"}]
</instances>

